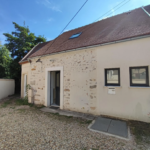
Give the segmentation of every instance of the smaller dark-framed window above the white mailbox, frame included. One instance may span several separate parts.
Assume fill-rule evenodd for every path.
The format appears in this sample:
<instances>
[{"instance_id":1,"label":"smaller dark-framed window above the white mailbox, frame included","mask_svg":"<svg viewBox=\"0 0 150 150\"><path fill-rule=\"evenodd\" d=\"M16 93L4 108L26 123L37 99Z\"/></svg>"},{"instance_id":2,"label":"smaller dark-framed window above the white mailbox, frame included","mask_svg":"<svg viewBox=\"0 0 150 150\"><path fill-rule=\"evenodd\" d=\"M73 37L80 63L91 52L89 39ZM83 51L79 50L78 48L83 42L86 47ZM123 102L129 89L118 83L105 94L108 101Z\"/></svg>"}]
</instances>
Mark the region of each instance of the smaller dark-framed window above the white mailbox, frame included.
<instances>
[{"instance_id":1,"label":"smaller dark-framed window above the white mailbox, frame included","mask_svg":"<svg viewBox=\"0 0 150 150\"><path fill-rule=\"evenodd\" d=\"M105 85L120 86L120 69L105 69Z\"/></svg>"}]
</instances>

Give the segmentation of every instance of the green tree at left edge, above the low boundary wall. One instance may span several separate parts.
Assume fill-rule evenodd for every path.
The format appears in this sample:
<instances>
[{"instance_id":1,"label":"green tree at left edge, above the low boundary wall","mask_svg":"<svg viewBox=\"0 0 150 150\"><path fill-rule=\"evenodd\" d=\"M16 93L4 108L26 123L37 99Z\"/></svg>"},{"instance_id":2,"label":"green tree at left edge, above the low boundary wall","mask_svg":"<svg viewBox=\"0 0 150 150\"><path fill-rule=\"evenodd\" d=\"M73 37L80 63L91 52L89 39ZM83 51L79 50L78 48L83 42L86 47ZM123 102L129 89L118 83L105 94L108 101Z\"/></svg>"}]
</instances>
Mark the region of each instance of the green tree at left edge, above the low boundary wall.
<instances>
[{"instance_id":1,"label":"green tree at left edge, above the low boundary wall","mask_svg":"<svg viewBox=\"0 0 150 150\"><path fill-rule=\"evenodd\" d=\"M10 64L12 59L5 46L0 45L0 78L10 78Z\"/></svg>"}]
</instances>

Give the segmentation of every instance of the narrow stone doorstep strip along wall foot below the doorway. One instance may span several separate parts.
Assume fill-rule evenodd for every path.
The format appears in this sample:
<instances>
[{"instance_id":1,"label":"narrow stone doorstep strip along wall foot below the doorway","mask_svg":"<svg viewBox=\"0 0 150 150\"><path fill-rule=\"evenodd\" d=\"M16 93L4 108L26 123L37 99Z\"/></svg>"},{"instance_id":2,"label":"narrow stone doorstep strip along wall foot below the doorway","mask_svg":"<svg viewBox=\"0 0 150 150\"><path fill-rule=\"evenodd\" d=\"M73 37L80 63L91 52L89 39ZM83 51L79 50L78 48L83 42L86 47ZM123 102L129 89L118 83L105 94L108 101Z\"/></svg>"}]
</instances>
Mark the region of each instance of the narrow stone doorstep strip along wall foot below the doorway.
<instances>
[{"instance_id":1,"label":"narrow stone doorstep strip along wall foot below the doorway","mask_svg":"<svg viewBox=\"0 0 150 150\"><path fill-rule=\"evenodd\" d=\"M72 116L72 117L83 118L87 120L94 120L97 117L90 114L79 113L79 112L68 111L68 110L61 110L61 109L53 109L50 107L44 107L41 108L40 110L43 112L59 113L59 115Z\"/></svg>"}]
</instances>

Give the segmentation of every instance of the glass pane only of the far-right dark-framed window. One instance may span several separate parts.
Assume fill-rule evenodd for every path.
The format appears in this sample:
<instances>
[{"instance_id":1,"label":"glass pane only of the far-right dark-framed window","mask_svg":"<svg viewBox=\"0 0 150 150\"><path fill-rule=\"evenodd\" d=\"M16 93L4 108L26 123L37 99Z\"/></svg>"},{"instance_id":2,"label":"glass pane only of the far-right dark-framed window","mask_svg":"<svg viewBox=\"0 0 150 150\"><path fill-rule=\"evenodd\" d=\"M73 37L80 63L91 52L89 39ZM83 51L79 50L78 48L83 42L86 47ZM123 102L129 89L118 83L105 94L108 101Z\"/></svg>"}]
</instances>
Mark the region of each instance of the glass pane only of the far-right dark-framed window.
<instances>
[{"instance_id":1,"label":"glass pane only of the far-right dark-framed window","mask_svg":"<svg viewBox=\"0 0 150 150\"><path fill-rule=\"evenodd\" d=\"M146 84L146 68L132 69L132 83Z\"/></svg>"}]
</instances>

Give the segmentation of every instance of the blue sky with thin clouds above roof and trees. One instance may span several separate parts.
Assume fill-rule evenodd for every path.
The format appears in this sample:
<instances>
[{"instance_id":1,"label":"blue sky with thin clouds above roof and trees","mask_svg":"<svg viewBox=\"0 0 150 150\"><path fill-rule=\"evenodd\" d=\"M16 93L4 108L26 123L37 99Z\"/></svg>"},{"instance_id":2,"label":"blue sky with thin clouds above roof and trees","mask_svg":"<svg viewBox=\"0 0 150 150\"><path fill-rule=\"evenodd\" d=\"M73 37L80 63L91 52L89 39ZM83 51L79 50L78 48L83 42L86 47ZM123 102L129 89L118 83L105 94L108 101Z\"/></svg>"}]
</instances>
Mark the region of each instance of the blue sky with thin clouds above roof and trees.
<instances>
[{"instance_id":1,"label":"blue sky with thin clouds above roof and trees","mask_svg":"<svg viewBox=\"0 0 150 150\"><path fill-rule=\"evenodd\" d=\"M5 44L3 33L14 30L12 22L29 26L36 36L47 41L56 38L86 0L0 0L0 41ZM121 3L123 2L123 3ZM126 3L127 2L127 3ZM121 3L119 9L114 7ZM65 31L78 28L102 18L111 17L132 9L146 6L150 0L88 0L83 9ZM118 6L118 7L119 7Z\"/></svg>"}]
</instances>

